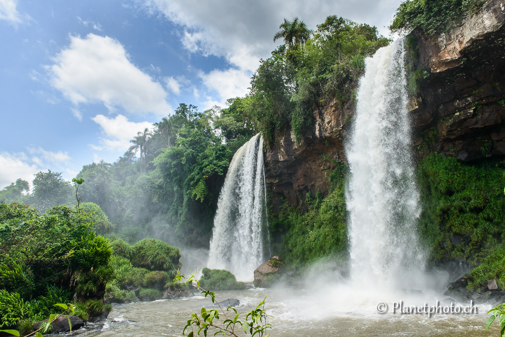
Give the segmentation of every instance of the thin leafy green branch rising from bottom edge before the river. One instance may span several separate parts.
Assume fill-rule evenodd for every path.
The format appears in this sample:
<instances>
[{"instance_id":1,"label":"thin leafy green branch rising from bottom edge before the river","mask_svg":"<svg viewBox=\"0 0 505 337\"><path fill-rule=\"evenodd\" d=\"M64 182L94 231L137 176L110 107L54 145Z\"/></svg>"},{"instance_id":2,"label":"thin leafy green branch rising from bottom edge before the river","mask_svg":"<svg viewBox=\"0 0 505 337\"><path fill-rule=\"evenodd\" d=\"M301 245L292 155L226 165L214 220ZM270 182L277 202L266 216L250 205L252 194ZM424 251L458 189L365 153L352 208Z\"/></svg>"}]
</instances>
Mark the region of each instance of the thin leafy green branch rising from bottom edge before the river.
<instances>
[{"instance_id":1,"label":"thin leafy green branch rising from bottom edge before the river","mask_svg":"<svg viewBox=\"0 0 505 337\"><path fill-rule=\"evenodd\" d=\"M194 274L188 278L184 276L184 274L181 274L179 270L177 270L177 276L175 276L174 282L182 282L182 279L185 279L186 284L191 284L198 288L198 290L200 290L200 293L205 295L205 297L210 296L212 303L217 303L216 294L201 288L200 283L196 280ZM193 337L195 334L195 329L197 329L197 335L200 335L200 332L203 331L204 335L207 336L209 329L214 328L217 330L214 332L214 335L222 334L223 336L229 335L239 337L237 333L242 330L245 334L249 333L251 337L255 335L258 337L269 337L270 335L266 333L268 329L272 329L272 325L270 323L267 323L267 317L272 316L267 315L266 313L265 299L263 299L263 301L258 304L256 309L245 314L245 321L240 321L238 319L240 314L237 313L237 310L232 307L228 307L226 308L225 312L219 303L217 303L217 305L219 306L220 310L207 310L206 308L201 308L199 315L198 313L194 313L191 315L191 318L187 320L186 326L182 330L182 334L185 333L186 329L190 328L191 331L187 334L187 337ZM227 316L227 313L234 314L233 319L229 318ZM222 323L217 322L217 320L220 318L225 318ZM236 330L238 330L238 332L236 332Z\"/></svg>"}]
</instances>

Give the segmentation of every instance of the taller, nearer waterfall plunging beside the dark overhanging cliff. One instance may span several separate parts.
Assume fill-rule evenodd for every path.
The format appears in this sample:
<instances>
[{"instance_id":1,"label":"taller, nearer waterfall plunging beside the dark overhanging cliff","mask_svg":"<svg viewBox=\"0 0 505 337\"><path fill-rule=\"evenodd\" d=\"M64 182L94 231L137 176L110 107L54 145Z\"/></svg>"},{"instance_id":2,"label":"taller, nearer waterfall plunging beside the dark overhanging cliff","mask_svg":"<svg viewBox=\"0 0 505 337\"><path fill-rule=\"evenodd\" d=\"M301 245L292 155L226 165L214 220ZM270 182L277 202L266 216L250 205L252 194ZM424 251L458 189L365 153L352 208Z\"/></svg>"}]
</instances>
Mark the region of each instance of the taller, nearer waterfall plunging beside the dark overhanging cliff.
<instances>
[{"instance_id":1,"label":"taller, nearer waterfall plunging beside the dark overhanging cliff","mask_svg":"<svg viewBox=\"0 0 505 337\"><path fill-rule=\"evenodd\" d=\"M424 270L404 63L404 39L366 60L346 144L351 277L400 289L415 287Z\"/></svg>"}]
</instances>

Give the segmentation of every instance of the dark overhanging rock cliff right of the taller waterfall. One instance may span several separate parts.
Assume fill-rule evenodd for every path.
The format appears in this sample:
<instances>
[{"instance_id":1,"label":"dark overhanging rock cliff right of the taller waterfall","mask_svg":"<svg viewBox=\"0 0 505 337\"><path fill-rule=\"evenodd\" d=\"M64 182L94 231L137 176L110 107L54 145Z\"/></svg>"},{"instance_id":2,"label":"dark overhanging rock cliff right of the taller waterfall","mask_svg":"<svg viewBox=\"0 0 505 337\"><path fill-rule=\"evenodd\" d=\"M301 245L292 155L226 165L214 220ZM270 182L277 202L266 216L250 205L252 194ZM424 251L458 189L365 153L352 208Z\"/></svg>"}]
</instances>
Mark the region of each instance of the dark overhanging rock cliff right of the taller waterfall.
<instances>
[{"instance_id":1,"label":"dark overhanging rock cliff right of the taller waterfall","mask_svg":"<svg viewBox=\"0 0 505 337\"><path fill-rule=\"evenodd\" d=\"M505 1L490 0L459 27L412 33L424 78L409 110L421 156L460 161L505 154Z\"/></svg>"}]
</instances>

